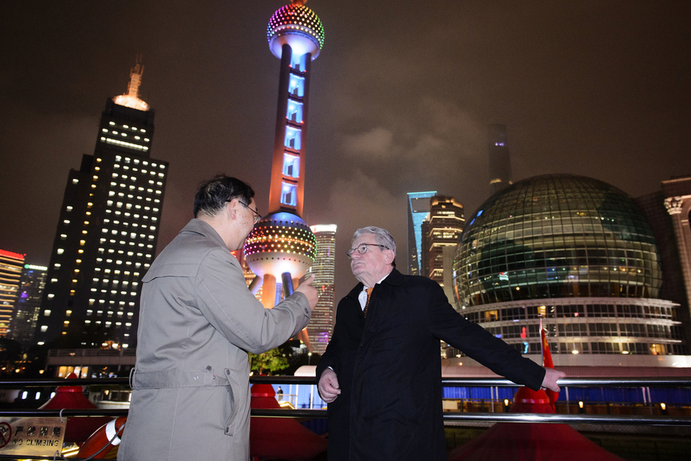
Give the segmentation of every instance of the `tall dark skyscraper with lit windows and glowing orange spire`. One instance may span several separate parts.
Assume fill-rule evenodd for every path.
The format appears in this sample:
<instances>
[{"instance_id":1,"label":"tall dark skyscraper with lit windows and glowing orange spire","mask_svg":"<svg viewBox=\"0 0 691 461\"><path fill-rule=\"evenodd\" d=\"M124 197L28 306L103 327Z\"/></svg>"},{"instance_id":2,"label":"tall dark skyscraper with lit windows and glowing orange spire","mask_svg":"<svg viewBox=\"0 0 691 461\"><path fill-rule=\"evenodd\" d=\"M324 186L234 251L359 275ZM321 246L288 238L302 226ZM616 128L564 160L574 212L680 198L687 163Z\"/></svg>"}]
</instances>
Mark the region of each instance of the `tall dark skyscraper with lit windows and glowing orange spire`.
<instances>
[{"instance_id":1,"label":"tall dark skyscraper with lit windows and glowing orange spire","mask_svg":"<svg viewBox=\"0 0 691 461\"><path fill-rule=\"evenodd\" d=\"M38 344L132 347L142 276L155 256L168 173L152 159L154 110L128 92L108 98L93 155L69 172L36 327Z\"/></svg>"}]
</instances>

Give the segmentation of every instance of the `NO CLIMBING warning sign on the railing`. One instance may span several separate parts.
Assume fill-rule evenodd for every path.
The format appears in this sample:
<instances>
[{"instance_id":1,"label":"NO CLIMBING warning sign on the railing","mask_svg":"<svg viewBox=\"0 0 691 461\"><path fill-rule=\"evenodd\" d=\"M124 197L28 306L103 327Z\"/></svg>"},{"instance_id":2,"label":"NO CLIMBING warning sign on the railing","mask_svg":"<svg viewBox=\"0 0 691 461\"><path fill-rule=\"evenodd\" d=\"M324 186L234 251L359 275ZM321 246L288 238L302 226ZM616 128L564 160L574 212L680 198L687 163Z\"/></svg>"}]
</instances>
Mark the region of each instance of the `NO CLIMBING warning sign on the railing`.
<instances>
[{"instance_id":1,"label":"NO CLIMBING warning sign on the railing","mask_svg":"<svg viewBox=\"0 0 691 461\"><path fill-rule=\"evenodd\" d=\"M67 419L11 418L0 420L0 454L53 456L62 453Z\"/></svg>"}]
</instances>

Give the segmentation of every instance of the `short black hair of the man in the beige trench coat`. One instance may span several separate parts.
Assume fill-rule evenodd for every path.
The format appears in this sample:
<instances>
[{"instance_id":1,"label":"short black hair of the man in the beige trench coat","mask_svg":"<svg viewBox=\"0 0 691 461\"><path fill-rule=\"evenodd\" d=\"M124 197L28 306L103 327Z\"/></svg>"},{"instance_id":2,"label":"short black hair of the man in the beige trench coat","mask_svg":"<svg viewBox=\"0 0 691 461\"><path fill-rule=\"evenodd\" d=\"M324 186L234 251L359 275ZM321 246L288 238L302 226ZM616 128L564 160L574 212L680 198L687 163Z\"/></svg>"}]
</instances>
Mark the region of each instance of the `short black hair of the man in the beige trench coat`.
<instances>
[{"instance_id":1,"label":"short black hair of the man in the beige trench coat","mask_svg":"<svg viewBox=\"0 0 691 461\"><path fill-rule=\"evenodd\" d=\"M254 190L249 184L223 174L216 175L199 186L194 196L194 217L217 215L234 198L249 205L253 197Z\"/></svg>"}]
</instances>

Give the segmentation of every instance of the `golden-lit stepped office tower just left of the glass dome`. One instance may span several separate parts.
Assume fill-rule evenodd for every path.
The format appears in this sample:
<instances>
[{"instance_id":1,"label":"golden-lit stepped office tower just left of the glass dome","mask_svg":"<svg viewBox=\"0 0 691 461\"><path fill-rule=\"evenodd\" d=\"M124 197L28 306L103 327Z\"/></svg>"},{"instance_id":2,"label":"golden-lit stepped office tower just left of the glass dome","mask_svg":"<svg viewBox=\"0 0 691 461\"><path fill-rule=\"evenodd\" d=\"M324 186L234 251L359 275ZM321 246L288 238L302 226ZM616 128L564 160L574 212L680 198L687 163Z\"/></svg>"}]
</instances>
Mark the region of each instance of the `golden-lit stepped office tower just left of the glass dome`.
<instances>
[{"instance_id":1,"label":"golden-lit stepped office tower just left of the glass dome","mask_svg":"<svg viewBox=\"0 0 691 461\"><path fill-rule=\"evenodd\" d=\"M434 195L429 203L429 216L422 224L422 273L436 280L451 295L451 283L444 283L451 266L444 266L444 248L456 249L466 220L463 205L453 197ZM450 281L450 279L449 279ZM448 290L447 290L448 289ZM450 299L453 299L451 297Z\"/></svg>"}]
</instances>

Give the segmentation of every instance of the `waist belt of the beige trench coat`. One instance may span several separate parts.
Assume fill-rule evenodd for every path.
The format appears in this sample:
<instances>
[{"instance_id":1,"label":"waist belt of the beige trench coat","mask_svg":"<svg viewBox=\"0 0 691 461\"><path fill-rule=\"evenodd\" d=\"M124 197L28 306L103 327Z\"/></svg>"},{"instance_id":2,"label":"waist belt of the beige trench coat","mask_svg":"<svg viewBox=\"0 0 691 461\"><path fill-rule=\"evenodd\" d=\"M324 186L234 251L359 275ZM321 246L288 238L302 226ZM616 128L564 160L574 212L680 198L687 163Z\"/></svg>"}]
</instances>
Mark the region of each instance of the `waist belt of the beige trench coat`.
<instances>
[{"instance_id":1,"label":"waist belt of the beige trench coat","mask_svg":"<svg viewBox=\"0 0 691 461\"><path fill-rule=\"evenodd\" d=\"M204 370L159 370L130 372L132 389L174 389L176 387L216 387L228 386L227 368L215 375L210 365Z\"/></svg>"}]
</instances>

